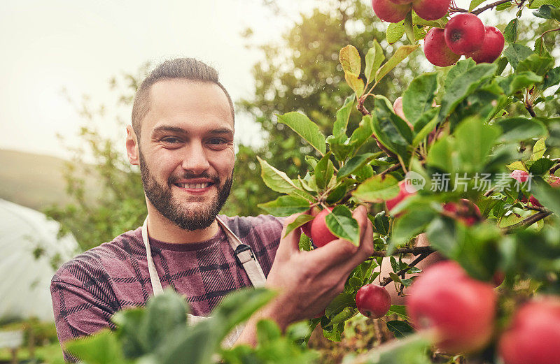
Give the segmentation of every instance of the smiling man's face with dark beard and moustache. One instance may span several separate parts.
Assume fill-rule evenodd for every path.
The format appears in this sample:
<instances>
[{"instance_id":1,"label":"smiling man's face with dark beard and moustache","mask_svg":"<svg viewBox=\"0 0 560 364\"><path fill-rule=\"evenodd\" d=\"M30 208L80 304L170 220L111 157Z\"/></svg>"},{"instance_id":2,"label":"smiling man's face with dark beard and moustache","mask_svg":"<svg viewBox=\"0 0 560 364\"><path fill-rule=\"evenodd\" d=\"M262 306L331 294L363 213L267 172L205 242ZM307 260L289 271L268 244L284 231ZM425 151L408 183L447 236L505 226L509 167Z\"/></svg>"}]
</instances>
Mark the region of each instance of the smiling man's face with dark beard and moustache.
<instances>
[{"instance_id":1,"label":"smiling man's face with dark beard and moustache","mask_svg":"<svg viewBox=\"0 0 560 364\"><path fill-rule=\"evenodd\" d=\"M165 80L151 87L139 140L142 184L151 204L180 228L210 226L228 198L233 128L218 85Z\"/></svg>"}]
</instances>

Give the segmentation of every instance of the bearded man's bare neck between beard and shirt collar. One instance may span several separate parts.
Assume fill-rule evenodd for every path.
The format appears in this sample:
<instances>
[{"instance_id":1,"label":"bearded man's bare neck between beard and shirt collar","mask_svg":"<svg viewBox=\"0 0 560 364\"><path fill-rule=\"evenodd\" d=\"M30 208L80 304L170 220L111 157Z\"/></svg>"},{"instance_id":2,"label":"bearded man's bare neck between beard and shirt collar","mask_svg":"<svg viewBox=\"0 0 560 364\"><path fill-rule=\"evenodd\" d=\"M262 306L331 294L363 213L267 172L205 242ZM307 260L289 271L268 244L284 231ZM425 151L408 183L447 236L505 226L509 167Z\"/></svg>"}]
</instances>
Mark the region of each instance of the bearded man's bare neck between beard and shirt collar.
<instances>
[{"instance_id":1,"label":"bearded man's bare neck between beard and shirt collar","mask_svg":"<svg viewBox=\"0 0 560 364\"><path fill-rule=\"evenodd\" d=\"M184 244L189 242L203 242L209 240L218 233L218 221L214 222L207 228L200 230L183 230L163 217L158 210L148 207L148 234L150 238L169 242L171 244Z\"/></svg>"}]
</instances>

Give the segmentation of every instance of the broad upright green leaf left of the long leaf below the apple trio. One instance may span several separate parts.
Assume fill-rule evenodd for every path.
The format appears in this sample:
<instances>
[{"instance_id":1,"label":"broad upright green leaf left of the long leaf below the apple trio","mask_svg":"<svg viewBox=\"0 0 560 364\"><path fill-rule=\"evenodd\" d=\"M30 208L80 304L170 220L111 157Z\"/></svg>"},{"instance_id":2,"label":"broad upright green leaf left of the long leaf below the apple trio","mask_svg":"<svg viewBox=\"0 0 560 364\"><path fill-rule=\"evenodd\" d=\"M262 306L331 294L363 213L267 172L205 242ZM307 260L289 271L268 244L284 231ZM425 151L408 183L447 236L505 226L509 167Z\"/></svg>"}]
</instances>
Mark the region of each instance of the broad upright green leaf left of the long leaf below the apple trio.
<instances>
[{"instance_id":1,"label":"broad upright green leaf left of the long leaf below the apple trio","mask_svg":"<svg viewBox=\"0 0 560 364\"><path fill-rule=\"evenodd\" d=\"M402 111L412 125L431 110L436 91L437 73L424 73L410 82L402 95Z\"/></svg>"}]
</instances>

